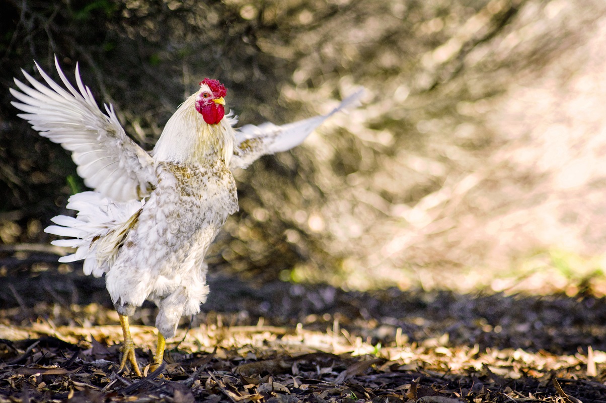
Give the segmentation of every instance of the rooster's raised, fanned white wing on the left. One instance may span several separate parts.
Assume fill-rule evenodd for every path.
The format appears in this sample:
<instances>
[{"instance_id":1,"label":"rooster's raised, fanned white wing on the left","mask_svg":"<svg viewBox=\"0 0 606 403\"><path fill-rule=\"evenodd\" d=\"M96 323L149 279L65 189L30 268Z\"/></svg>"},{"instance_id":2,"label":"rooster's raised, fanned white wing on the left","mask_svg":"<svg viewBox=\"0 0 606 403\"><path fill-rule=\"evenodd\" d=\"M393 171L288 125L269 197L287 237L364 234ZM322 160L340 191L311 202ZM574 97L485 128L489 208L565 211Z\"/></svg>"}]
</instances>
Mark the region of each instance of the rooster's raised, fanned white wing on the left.
<instances>
[{"instance_id":1,"label":"rooster's raised, fanned white wing on the left","mask_svg":"<svg viewBox=\"0 0 606 403\"><path fill-rule=\"evenodd\" d=\"M113 106L104 104L107 115L99 109L90 89L82 84L78 64L78 90L69 83L56 57L55 66L68 91L36 63L48 86L22 70L30 85L15 78L21 92L10 89L20 101L12 102L13 106L25 112L18 116L42 136L72 152L78 175L89 188L116 202L148 195L156 185L153 158L127 137Z\"/></svg>"}]
</instances>

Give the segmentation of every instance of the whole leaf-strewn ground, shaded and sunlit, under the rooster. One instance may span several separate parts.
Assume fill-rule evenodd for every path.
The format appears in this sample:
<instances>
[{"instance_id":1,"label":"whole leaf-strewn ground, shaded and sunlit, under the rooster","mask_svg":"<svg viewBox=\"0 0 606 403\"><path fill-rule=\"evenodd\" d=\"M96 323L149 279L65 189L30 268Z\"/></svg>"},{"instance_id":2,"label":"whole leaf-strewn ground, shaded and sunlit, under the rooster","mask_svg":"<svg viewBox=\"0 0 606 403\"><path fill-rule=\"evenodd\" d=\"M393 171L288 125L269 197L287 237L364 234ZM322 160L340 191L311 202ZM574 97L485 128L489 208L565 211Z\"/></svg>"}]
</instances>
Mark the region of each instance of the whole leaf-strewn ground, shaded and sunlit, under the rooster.
<instances>
[{"instance_id":1,"label":"whole leaf-strewn ground, shaded and sunlit, under the rooster","mask_svg":"<svg viewBox=\"0 0 606 403\"><path fill-rule=\"evenodd\" d=\"M606 402L606 299L591 289L362 293L215 274L202 313L141 379L117 372L103 279L5 267L0 402ZM151 305L132 320L142 367L154 320Z\"/></svg>"}]
</instances>

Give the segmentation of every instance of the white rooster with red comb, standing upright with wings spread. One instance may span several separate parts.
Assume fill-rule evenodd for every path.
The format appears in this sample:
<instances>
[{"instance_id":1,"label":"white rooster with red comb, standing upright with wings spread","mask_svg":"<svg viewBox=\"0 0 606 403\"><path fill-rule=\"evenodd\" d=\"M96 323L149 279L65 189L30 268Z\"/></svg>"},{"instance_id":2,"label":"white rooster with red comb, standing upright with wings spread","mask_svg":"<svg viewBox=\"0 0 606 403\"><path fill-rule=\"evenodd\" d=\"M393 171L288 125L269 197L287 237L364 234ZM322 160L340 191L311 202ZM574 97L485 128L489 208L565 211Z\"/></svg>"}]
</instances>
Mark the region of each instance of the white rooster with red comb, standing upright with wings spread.
<instances>
[{"instance_id":1,"label":"white rooster with red comb, standing upright with wings spread","mask_svg":"<svg viewBox=\"0 0 606 403\"><path fill-rule=\"evenodd\" d=\"M363 91L327 115L234 129L236 118L225 115L225 86L205 78L148 154L127 137L113 106L99 109L78 64L77 89L56 58L65 89L36 67L47 85L22 70L29 85L15 78L20 91L10 89L18 100L12 104L40 135L72 152L78 174L94 189L72 195L67 208L77 211L76 217L58 215L45 232L68 237L53 245L76 249L59 262L84 260L85 274L105 275L124 334L119 370L129 362L138 376L128 317L145 300L158 306L155 370L181 316L198 313L207 299L204 255L228 215L238 211L231 172L297 146L328 117L356 106Z\"/></svg>"}]
</instances>

